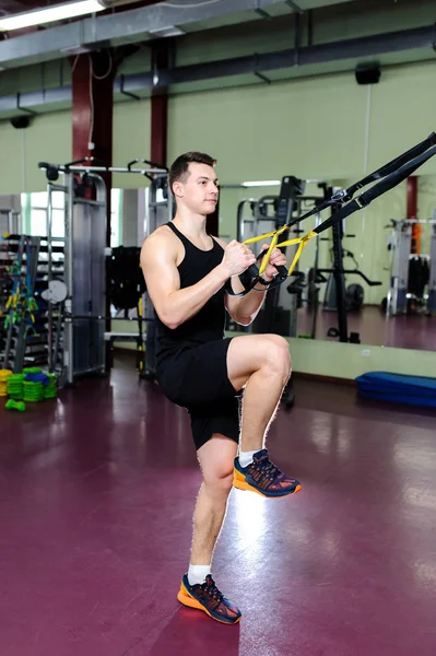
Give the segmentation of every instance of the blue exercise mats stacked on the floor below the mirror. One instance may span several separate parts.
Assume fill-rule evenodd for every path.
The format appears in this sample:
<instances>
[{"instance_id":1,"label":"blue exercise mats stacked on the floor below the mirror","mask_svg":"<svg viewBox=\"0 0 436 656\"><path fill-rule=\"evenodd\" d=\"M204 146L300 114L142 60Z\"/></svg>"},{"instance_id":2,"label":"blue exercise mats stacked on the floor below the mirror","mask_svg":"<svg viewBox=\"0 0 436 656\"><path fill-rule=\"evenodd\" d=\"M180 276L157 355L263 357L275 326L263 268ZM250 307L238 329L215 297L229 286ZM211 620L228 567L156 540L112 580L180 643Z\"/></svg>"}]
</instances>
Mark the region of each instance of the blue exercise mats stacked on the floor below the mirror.
<instances>
[{"instance_id":1,"label":"blue exercise mats stacked on the floor below the mirror","mask_svg":"<svg viewBox=\"0 0 436 656\"><path fill-rule=\"evenodd\" d=\"M436 378L370 372L356 378L363 398L436 408Z\"/></svg>"}]
</instances>

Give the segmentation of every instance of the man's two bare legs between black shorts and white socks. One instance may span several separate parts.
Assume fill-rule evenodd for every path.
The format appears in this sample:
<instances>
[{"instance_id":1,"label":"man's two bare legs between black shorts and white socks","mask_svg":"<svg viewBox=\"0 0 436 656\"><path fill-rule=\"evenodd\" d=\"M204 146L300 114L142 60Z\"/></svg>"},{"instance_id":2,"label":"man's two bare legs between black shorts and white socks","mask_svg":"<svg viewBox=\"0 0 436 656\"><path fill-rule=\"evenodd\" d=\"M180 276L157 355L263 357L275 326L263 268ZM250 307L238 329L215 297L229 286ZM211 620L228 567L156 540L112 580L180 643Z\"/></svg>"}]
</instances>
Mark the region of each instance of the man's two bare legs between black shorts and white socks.
<instances>
[{"instance_id":1,"label":"man's two bare legs between black shorts and white socks","mask_svg":"<svg viewBox=\"0 0 436 656\"><path fill-rule=\"evenodd\" d=\"M236 337L227 351L228 378L235 389L245 385L241 450L260 450L283 388L291 374L285 339L276 335ZM191 565L207 565L225 517L237 445L214 435L198 452L203 483L193 516Z\"/></svg>"}]
</instances>

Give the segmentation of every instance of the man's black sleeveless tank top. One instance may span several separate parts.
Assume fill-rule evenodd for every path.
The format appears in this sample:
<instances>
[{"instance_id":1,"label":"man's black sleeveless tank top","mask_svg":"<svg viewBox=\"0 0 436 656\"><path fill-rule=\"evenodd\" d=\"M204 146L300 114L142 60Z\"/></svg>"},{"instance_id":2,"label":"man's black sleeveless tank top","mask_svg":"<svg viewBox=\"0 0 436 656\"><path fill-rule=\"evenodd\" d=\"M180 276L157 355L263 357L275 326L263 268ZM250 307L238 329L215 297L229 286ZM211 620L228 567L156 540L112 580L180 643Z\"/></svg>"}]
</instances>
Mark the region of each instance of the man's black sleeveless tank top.
<instances>
[{"instance_id":1,"label":"man's black sleeveless tank top","mask_svg":"<svg viewBox=\"0 0 436 656\"><path fill-rule=\"evenodd\" d=\"M221 263L224 249L213 237L213 247L210 250L201 250L181 234L173 222L166 223L166 225L173 230L185 247L185 257L177 267L180 276L180 289L197 284ZM166 366L180 350L224 338L224 295L223 286L193 317L175 329L165 326L156 315L157 370L162 371L162 367Z\"/></svg>"}]
</instances>

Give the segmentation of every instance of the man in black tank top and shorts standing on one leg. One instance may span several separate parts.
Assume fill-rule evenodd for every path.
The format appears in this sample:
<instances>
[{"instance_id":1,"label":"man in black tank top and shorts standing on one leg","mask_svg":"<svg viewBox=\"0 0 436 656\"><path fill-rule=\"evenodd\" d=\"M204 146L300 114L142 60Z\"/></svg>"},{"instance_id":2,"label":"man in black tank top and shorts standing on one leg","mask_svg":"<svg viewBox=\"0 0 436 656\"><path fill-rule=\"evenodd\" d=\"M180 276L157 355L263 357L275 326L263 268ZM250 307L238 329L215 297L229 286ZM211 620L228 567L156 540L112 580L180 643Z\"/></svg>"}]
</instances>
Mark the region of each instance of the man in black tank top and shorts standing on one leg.
<instances>
[{"instance_id":1,"label":"man in black tank top and shorts standing on one leg","mask_svg":"<svg viewBox=\"0 0 436 656\"><path fill-rule=\"evenodd\" d=\"M157 315L156 376L165 395L190 414L203 475L189 571L178 599L233 624L239 621L240 611L223 597L211 576L231 489L284 496L298 492L301 485L282 473L263 448L291 373L286 340L276 335L224 337L225 309L235 321L248 326L266 292L254 290L238 298L224 291L224 283L255 263L256 257L244 244L226 244L207 233L207 216L214 212L219 197L214 164L209 155L196 152L174 162L169 187L177 213L144 242L141 265ZM264 281L273 279L274 265L284 263L283 254L274 249ZM236 278L234 289L238 283ZM237 456L237 393L243 388Z\"/></svg>"}]
</instances>

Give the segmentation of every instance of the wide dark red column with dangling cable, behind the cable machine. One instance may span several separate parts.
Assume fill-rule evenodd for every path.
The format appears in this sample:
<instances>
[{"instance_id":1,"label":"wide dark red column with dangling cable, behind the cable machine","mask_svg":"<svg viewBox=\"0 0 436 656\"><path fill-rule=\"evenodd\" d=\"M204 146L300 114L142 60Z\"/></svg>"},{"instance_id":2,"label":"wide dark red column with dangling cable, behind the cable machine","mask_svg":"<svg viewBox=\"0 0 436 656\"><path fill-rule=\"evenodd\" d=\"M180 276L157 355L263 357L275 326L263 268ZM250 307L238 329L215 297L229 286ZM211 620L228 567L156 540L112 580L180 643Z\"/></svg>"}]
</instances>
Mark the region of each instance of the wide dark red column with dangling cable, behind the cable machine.
<instances>
[{"instance_id":1,"label":"wide dark red column with dangling cable, behind the cable machine","mask_svg":"<svg viewBox=\"0 0 436 656\"><path fill-rule=\"evenodd\" d=\"M111 50L72 59L72 159L94 157L104 166L113 164L114 78ZM106 244L110 246L111 174L102 174L107 188Z\"/></svg>"}]
</instances>

